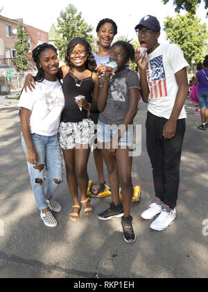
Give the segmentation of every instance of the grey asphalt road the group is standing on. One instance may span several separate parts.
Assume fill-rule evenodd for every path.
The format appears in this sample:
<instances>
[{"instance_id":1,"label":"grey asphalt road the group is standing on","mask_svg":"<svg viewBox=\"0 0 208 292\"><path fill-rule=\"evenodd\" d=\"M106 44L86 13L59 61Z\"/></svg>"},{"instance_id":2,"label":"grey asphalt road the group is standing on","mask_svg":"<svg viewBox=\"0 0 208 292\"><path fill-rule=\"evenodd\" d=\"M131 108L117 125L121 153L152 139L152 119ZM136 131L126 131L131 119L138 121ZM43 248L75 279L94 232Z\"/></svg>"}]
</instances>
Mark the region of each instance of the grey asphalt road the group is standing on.
<instances>
[{"instance_id":1,"label":"grey asphalt road the group is standing on","mask_svg":"<svg viewBox=\"0 0 208 292\"><path fill-rule=\"evenodd\" d=\"M208 275L208 131L196 129L200 117L186 101L187 132L181 163L177 220L154 232L140 215L153 202L153 177L146 152L146 105L135 122L142 125L142 151L134 158L132 179L142 199L132 204L135 244L123 241L121 219L100 221L111 197L93 199L94 214L71 222L72 200L64 182L55 193L62 205L55 229L45 227L29 183L20 144L17 101L0 97L0 277L1 278L202 278ZM96 180L92 154L89 177ZM105 175L107 172L105 168Z\"/></svg>"}]
</instances>

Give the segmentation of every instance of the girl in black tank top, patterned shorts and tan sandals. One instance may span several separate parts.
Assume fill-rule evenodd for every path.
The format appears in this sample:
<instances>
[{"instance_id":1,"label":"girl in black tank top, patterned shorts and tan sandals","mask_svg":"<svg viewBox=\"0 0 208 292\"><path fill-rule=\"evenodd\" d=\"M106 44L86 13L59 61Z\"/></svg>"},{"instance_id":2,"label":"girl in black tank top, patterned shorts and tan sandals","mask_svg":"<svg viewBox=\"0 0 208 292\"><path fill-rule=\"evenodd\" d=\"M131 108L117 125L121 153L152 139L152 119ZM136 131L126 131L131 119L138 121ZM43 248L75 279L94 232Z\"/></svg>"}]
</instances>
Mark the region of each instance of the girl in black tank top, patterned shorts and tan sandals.
<instances>
[{"instance_id":1,"label":"girl in black tank top, patterned shorts and tan sandals","mask_svg":"<svg viewBox=\"0 0 208 292\"><path fill-rule=\"evenodd\" d=\"M94 73L96 61L91 46L85 39L74 38L69 42L65 61L67 65L60 68L65 106L59 136L67 170L67 183L73 199L69 219L77 221L81 207L86 216L93 213L87 197L89 184L87 162L90 152L89 143L94 136L94 122L87 118L87 112L90 108L96 110L99 79ZM80 96L82 98L76 101L76 97Z\"/></svg>"}]
</instances>

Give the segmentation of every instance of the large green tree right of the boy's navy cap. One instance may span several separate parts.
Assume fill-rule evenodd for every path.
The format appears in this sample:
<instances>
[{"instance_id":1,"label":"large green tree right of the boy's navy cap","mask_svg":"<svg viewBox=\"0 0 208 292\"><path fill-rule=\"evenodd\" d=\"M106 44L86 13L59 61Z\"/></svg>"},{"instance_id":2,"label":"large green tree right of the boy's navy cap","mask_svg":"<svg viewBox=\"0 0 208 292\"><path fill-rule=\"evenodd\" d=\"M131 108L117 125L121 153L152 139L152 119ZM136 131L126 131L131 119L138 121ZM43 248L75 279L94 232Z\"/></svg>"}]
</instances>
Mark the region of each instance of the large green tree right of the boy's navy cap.
<instances>
[{"instance_id":1,"label":"large green tree right of the boy's navy cap","mask_svg":"<svg viewBox=\"0 0 208 292\"><path fill-rule=\"evenodd\" d=\"M184 57L190 65L192 60L195 60L196 63L203 60L202 51L208 38L207 25L200 24L198 17L190 13L184 16L177 15L175 18L166 17L164 31L166 31L167 40L182 49Z\"/></svg>"}]
</instances>

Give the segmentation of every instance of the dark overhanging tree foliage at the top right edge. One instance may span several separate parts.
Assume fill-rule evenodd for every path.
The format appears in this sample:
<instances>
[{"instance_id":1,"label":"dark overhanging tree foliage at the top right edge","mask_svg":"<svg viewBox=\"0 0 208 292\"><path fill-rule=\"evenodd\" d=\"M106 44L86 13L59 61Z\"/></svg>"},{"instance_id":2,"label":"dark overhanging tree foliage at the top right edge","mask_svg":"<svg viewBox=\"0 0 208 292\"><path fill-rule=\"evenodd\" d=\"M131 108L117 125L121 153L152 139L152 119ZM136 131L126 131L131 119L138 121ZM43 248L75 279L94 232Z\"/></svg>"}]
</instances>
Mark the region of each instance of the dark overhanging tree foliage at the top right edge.
<instances>
[{"instance_id":1,"label":"dark overhanging tree foliage at the top right edge","mask_svg":"<svg viewBox=\"0 0 208 292\"><path fill-rule=\"evenodd\" d=\"M208 0L203 0L205 2L205 9L208 8ZM169 0L162 0L164 4L168 3ZM187 10L188 13L196 15L196 8L202 2L202 0L173 0L173 5L175 6L175 12L180 13L180 10ZM207 12L208 17L208 12Z\"/></svg>"}]
</instances>

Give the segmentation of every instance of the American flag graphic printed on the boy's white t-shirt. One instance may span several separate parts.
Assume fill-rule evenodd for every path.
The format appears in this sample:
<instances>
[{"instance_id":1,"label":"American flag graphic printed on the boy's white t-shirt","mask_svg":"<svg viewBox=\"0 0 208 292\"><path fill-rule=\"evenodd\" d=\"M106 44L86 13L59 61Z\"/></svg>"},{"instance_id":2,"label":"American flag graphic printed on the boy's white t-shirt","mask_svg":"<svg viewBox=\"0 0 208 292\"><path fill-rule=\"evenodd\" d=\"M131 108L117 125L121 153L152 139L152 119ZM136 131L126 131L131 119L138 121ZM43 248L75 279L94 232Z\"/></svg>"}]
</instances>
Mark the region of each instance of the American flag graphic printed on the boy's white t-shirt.
<instances>
[{"instance_id":1,"label":"American flag graphic printed on the boy's white t-shirt","mask_svg":"<svg viewBox=\"0 0 208 292\"><path fill-rule=\"evenodd\" d=\"M167 97L166 73L163 65L163 56L150 60L147 66L148 84L150 88L150 99Z\"/></svg>"}]
</instances>

